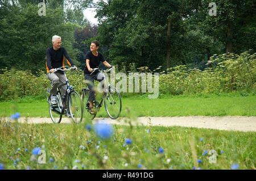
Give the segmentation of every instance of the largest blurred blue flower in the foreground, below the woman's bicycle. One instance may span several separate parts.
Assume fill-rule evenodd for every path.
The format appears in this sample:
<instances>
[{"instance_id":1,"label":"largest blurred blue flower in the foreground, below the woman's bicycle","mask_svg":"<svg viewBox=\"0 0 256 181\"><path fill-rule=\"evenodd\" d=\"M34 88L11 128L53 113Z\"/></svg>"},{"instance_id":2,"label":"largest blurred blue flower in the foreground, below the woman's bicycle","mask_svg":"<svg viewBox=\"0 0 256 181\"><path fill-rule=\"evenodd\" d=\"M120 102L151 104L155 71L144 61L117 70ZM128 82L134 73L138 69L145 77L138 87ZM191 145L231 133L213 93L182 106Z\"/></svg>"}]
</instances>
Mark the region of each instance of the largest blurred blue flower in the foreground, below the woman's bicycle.
<instances>
[{"instance_id":1,"label":"largest blurred blue flower in the foreground, below the woman's bicycle","mask_svg":"<svg viewBox=\"0 0 256 181\"><path fill-rule=\"evenodd\" d=\"M108 140L113 135L112 124L96 123L94 131L103 140Z\"/></svg>"}]
</instances>

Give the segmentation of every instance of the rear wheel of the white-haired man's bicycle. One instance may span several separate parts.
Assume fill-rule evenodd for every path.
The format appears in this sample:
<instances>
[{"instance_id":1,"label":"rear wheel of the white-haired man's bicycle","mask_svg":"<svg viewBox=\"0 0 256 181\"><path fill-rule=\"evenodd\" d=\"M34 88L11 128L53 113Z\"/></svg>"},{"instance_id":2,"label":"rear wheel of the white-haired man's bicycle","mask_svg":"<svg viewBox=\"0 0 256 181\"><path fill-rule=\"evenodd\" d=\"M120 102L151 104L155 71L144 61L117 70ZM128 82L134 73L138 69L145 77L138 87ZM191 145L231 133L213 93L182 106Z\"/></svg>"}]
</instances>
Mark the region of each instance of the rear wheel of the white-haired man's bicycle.
<instances>
[{"instance_id":1,"label":"rear wheel of the white-haired man's bicycle","mask_svg":"<svg viewBox=\"0 0 256 181\"><path fill-rule=\"evenodd\" d=\"M56 96L57 104L51 104L51 98L50 95L48 97L48 102L49 102L49 114L51 116L51 120L53 123L60 123L61 118L62 118L62 110L60 110L59 106L60 105L60 99L59 96Z\"/></svg>"}]
</instances>

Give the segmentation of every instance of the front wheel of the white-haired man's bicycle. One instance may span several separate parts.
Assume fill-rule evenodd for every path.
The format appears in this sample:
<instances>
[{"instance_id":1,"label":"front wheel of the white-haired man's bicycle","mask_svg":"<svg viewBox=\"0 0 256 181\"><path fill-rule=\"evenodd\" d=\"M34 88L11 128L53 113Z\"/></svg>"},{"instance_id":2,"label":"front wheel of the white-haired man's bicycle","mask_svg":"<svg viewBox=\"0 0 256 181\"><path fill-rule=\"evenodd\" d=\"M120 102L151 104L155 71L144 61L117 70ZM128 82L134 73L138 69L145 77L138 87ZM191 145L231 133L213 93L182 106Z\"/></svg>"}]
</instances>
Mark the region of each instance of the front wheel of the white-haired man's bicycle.
<instances>
[{"instance_id":1,"label":"front wheel of the white-haired man's bicycle","mask_svg":"<svg viewBox=\"0 0 256 181\"><path fill-rule=\"evenodd\" d=\"M72 91L68 99L69 113L74 123L80 123L82 121L82 102L79 94L76 91Z\"/></svg>"}]
</instances>

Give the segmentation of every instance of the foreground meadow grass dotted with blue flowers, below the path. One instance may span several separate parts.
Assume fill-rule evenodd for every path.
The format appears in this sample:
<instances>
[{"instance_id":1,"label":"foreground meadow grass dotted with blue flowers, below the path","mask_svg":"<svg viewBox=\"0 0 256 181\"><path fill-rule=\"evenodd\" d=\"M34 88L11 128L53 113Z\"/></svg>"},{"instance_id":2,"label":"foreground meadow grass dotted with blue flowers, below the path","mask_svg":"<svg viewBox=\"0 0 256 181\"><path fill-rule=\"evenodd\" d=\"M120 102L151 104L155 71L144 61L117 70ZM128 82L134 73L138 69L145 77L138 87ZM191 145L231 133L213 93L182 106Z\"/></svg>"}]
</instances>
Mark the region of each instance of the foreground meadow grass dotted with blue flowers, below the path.
<instances>
[{"instance_id":1,"label":"foreground meadow grass dotted with blue flowers, below the path","mask_svg":"<svg viewBox=\"0 0 256 181\"><path fill-rule=\"evenodd\" d=\"M132 140L130 145L124 145L125 138ZM86 131L85 123L19 124L2 120L0 142L0 164L5 169L230 169L234 163L239 169L255 169L256 162L255 132L115 125L110 140L100 140L93 129ZM31 160L36 147L46 151L46 163ZM160 147L164 153L159 153ZM213 155L203 155L205 150L216 150L217 163L209 163Z\"/></svg>"}]
</instances>

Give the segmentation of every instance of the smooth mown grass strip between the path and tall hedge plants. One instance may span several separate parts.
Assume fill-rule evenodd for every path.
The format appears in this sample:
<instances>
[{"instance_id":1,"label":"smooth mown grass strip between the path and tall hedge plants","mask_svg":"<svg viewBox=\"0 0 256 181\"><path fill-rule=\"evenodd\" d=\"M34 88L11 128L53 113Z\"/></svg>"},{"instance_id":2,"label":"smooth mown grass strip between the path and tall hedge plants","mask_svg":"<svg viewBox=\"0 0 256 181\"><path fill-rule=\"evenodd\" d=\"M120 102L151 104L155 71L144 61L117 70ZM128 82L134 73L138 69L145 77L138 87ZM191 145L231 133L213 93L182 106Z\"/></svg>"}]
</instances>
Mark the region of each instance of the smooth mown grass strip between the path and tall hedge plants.
<instances>
[{"instance_id":1,"label":"smooth mown grass strip between the path and tall hedge plants","mask_svg":"<svg viewBox=\"0 0 256 181\"><path fill-rule=\"evenodd\" d=\"M203 96L163 96L147 99L145 96L122 98L120 117L130 110L135 116L256 116L256 96L203 95ZM49 117L46 100L33 97L0 103L0 116L9 117L14 112L21 116ZM102 107L97 117L108 117Z\"/></svg>"}]
</instances>

